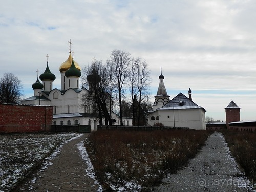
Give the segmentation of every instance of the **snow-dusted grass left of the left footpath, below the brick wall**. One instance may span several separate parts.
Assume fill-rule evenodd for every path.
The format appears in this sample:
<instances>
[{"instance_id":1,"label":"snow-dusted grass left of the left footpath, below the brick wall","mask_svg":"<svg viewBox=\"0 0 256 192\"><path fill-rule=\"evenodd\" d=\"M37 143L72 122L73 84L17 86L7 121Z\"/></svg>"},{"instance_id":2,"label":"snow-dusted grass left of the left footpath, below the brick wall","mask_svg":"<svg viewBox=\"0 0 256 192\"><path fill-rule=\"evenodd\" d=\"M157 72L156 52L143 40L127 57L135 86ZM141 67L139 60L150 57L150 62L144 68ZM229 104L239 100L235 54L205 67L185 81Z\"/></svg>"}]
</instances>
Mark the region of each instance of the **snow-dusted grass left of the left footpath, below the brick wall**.
<instances>
[{"instance_id":1,"label":"snow-dusted grass left of the left footpath, below the brick wall","mask_svg":"<svg viewBox=\"0 0 256 192\"><path fill-rule=\"evenodd\" d=\"M54 158L63 143L79 137L65 134L0 135L0 191L13 188L46 158ZM43 166L46 168L48 161Z\"/></svg>"}]
</instances>

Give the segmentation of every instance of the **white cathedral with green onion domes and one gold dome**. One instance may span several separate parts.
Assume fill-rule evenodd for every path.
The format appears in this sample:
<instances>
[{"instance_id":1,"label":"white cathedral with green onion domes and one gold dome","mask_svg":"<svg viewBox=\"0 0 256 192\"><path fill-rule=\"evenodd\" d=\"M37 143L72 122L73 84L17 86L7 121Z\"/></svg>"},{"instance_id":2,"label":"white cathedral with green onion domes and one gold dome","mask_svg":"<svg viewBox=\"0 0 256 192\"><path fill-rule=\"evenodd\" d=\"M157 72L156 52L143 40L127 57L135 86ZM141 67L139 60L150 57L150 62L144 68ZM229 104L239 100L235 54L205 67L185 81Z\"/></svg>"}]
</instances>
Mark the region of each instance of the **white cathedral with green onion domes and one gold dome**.
<instances>
[{"instance_id":1,"label":"white cathedral with green onion domes and one gold dome","mask_svg":"<svg viewBox=\"0 0 256 192\"><path fill-rule=\"evenodd\" d=\"M91 130L96 130L99 125L98 114L92 113L89 104L82 100L89 90L83 85L80 88L81 67L71 56L71 47L69 57L60 65L59 71L61 89L53 89L56 76L49 69L47 55L46 70L39 76L42 83L37 75L36 82L32 84L34 96L22 100L21 104L53 106L53 125L91 125ZM120 118L115 113L112 113L112 121L114 125L120 125ZM132 118L123 118L123 125L132 125Z\"/></svg>"}]
</instances>

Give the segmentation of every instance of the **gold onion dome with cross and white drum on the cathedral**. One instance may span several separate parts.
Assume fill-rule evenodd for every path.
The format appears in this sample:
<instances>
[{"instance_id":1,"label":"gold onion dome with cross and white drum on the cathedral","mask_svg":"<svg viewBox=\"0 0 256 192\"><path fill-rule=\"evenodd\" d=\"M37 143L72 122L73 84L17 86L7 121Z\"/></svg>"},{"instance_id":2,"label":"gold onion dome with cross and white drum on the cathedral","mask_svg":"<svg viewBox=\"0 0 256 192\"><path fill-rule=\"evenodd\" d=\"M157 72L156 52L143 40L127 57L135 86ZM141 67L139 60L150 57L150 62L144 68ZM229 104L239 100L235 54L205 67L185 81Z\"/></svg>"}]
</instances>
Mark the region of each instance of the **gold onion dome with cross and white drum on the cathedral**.
<instances>
[{"instance_id":1,"label":"gold onion dome with cross and white drum on the cathedral","mask_svg":"<svg viewBox=\"0 0 256 192\"><path fill-rule=\"evenodd\" d=\"M74 62L75 68L78 69L79 71L81 71L81 67L78 65L78 63L76 61L74 61L73 57L71 56L71 39L69 39L68 41L70 47L69 47L69 57L68 59L63 62L60 67L59 67L59 72L61 74L61 89L62 90L66 90L69 88L69 82L67 82L67 77L65 76L65 72L71 67L72 62Z\"/></svg>"}]
</instances>

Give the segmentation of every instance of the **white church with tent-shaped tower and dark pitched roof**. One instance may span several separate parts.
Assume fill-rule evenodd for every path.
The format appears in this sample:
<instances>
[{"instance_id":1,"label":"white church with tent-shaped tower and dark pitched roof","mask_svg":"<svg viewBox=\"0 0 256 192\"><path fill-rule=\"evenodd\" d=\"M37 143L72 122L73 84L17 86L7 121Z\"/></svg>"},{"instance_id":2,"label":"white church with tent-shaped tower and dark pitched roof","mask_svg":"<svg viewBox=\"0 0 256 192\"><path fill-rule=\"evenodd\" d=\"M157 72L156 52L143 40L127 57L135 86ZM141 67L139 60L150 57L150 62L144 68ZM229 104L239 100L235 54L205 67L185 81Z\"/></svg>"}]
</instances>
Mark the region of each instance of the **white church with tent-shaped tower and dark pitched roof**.
<instances>
[{"instance_id":1,"label":"white church with tent-shaped tower and dark pitched roof","mask_svg":"<svg viewBox=\"0 0 256 192\"><path fill-rule=\"evenodd\" d=\"M172 100L166 92L164 76L159 76L159 86L153 111L148 114L148 124L154 126L162 124L169 127L186 127L190 129L205 130L205 109L192 101L192 92L189 88L188 95L179 93Z\"/></svg>"}]
</instances>

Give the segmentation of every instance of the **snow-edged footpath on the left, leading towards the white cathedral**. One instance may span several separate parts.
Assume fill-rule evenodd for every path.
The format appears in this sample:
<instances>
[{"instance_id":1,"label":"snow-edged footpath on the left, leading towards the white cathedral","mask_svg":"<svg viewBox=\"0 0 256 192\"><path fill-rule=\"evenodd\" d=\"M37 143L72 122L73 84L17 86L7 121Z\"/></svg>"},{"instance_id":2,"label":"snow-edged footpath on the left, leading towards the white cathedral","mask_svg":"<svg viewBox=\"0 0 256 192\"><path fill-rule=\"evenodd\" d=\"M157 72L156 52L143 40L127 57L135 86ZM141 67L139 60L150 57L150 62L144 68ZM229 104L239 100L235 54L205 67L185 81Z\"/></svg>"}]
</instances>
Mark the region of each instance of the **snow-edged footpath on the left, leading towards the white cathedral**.
<instances>
[{"instance_id":1,"label":"snow-edged footpath on the left, leading towards the white cathedral","mask_svg":"<svg viewBox=\"0 0 256 192\"><path fill-rule=\"evenodd\" d=\"M13 191L102 191L90 173L90 163L82 151L81 134L65 144L56 157L48 160L47 167L32 173Z\"/></svg>"}]
</instances>

